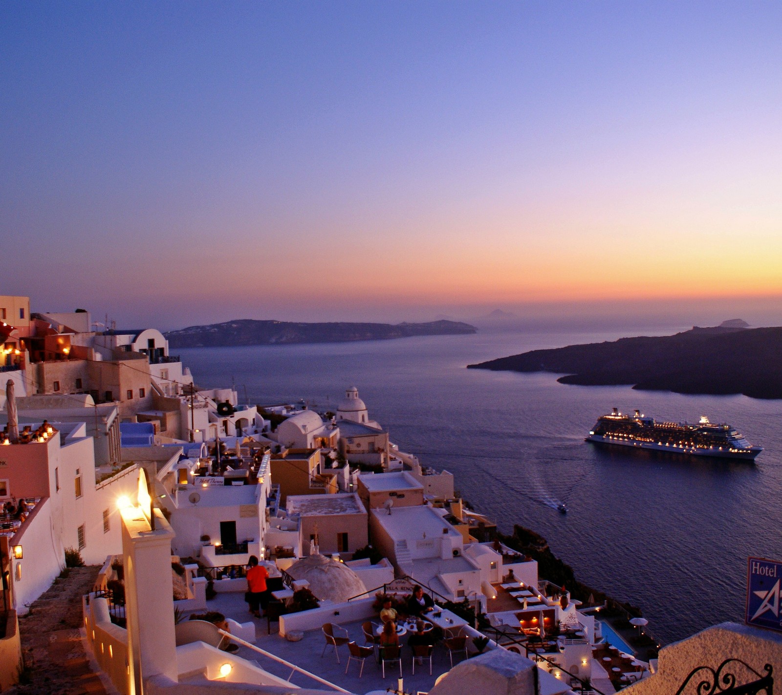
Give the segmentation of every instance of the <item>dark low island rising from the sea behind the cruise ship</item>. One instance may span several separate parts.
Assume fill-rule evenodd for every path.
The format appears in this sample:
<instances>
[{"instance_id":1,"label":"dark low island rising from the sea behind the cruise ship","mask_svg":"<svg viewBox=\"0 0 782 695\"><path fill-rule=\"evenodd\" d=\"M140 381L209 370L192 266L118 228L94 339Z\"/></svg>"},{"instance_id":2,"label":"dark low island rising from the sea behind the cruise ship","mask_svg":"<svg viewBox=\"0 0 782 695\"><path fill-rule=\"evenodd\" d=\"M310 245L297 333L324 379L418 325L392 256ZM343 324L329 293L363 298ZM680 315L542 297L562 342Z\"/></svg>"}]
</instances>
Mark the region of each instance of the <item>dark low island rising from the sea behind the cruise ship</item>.
<instances>
[{"instance_id":1,"label":"dark low island rising from the sea behind the cruise ship","mask_svg":"<svg viewBox=\"0 0 782 695\"><path fill-rule=\"evenodd\" d=\"M632 385L644 391L782 398L782 328L732 319L658 338L532 350L468 369L567 374L561 384Z\"/></svg>"}]
</instances>

